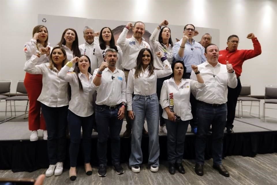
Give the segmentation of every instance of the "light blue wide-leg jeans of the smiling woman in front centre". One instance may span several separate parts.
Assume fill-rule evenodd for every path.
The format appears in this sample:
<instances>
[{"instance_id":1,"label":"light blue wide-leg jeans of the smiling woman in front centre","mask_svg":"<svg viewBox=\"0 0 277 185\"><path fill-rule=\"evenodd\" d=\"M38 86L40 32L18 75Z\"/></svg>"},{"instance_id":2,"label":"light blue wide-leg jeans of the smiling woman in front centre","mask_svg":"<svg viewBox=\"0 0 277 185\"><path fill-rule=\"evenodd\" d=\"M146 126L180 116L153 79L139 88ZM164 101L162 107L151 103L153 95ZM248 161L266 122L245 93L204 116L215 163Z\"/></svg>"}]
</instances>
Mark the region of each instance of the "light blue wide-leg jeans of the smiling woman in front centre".
<instances>
[{"instance_id":1,"label":"light blue wide-leg jeans of the smiling woman in front centre","mask_svg":"<svg viewBox=\"0 0 277 185\"><path fill-rule=\"evenodd\" d=\"M129 165L136 166L143 162L141 151L141 136L146 116L149 133L149 158L150 166L159 166L159 102L157 94L149 96L134 95L133 111L135 119L132 125L131 155Z\"/></svg>"}]
</instances>

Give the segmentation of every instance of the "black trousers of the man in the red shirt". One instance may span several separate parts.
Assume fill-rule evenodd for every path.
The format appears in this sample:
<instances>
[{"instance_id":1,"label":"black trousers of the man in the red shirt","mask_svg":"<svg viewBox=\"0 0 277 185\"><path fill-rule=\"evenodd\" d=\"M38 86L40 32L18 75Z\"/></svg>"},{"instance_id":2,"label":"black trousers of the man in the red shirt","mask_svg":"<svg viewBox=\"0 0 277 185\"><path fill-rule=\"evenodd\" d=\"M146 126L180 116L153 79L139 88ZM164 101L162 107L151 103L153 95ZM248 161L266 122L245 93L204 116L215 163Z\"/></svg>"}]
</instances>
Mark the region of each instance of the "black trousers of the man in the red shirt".
<instances>
[{"instance_id":1,"label":"black trousers of the man in the red shirt","mask_svg":"<svg viewBox=\"0 0 277 185\"><path fill-rule=\"evenodd\" d=\"M242 84L240 83L239 77L237 78L237 87L228 87L228 97L227 97L227 121L226 128L231 129L234 127L233 122L235 119L237 97L239 97L240 91L242 90Z\"/></svg>"}]
</instances>

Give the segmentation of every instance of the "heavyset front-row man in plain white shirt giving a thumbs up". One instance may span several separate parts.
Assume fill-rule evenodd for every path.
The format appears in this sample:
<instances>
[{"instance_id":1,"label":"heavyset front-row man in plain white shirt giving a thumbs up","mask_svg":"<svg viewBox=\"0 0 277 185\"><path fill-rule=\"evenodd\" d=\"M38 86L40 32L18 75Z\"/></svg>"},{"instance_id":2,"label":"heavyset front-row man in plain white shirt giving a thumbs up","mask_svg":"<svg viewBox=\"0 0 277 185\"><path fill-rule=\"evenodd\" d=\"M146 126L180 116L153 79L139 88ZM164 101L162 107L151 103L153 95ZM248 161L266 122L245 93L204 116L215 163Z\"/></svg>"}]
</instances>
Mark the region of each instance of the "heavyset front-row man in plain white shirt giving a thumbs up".
<instances>
[{"instance_id":1,"label":"heavyset front-row man in plain white shirt giving a thumbs up","mask_svg":"<svg viewBox=\"0 0 277 185\"><path fill-rule=\"evenodd\" d=\"M237 77L232 64L226 65L218 62L219 50L215 44L210 44L205 49L206 62L198 65L201 76L206 86L194 91L197 102L198 129L195 140L195 173L204 174L204 156L207 133L212 124L213 139L213 168L221 175L229 177L228 171L222 165L222 139L227 116L228 88L237 86ZM191 73L191 79L196 80L195 73Z\"/></svg>"}]
</instances>

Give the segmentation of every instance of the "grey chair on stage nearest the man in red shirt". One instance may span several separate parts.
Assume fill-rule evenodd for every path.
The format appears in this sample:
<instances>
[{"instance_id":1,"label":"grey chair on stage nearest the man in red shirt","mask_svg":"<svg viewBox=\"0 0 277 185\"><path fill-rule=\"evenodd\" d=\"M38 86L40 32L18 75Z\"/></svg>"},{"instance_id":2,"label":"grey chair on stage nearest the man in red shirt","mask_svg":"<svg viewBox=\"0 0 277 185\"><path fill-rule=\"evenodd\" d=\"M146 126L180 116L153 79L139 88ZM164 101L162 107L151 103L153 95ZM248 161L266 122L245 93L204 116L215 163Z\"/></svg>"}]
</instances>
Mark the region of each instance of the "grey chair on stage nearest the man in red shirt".
<instances>
[{"instance_id":1,"label":"grey chair on stage nearest the man in red shirt","mask_svg":"<svg viewBox=\"0 0 277 185\"><path fill-rule=\"evenodd\" d=\"M247 96L247 97L245 97L245 96ZM242 85L242 90L240 91L240 94L239 94L239 97L237 98L237 101L239 103L239 106L241 105L241 108L242 108L242 106L249 106L249 105L242 105L243 101L251 101L250 111L249 111L250 116L252 116L251 115L252 106L259 107L259 118L260 118L260 101L261 100L251 97L251 86L250 85ZM258 103L259 105L252 105L253 102ZM243 111L242 111L242 116L243 116Z\"/></svg>"}]
</instances>

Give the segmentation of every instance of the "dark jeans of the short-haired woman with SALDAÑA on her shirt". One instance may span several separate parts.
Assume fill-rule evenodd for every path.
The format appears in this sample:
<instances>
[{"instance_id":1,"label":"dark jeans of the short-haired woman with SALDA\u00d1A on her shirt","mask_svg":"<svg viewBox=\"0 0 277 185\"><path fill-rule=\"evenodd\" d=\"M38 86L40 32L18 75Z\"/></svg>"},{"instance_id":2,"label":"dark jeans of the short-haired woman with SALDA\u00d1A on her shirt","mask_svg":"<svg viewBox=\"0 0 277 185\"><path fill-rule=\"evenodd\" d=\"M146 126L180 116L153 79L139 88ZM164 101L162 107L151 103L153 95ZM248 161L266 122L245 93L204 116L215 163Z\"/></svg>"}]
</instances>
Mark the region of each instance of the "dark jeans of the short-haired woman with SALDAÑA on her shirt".
<instances>
[{"instance_id":1,"label":"dark jeans of the short-haired woman with SALDA\u00d1A on her shirt","mask_svg":"<svg viewBox=\"0 0 277 185\"><path fill-rule=\"evenodd\" d=\"M189 120L173 122L164 119L167 129L167 160L169 163L182 163L184 144Z\"/></svg>"}]
</instances>

